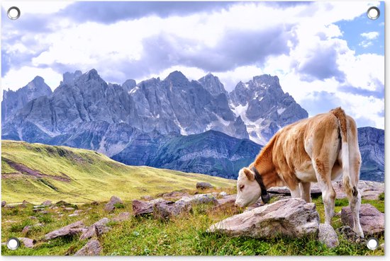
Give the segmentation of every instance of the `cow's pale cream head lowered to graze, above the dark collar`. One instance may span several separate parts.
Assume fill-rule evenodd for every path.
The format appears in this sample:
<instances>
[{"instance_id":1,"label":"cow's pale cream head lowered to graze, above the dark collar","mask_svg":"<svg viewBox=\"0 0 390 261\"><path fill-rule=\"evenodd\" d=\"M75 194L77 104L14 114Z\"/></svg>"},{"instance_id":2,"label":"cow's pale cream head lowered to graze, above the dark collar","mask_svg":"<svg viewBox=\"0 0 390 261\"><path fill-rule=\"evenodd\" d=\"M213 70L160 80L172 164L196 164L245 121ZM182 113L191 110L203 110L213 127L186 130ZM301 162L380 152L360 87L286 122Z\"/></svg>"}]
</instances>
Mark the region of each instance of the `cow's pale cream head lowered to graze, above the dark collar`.
<instances>
[{"instance_id":1,"label":"cow's pale cream head lowered to graze, above the dark collar","mask_svg":"<svg viewBox=\"0 0 390 261\"><path fill-rule=\"evenodd\" d=\"M235 205L238 207L247 207L255 204L262 195L259 183L255 180L255 173L249 168L242 168L238 173L237 197Z\"/></svg>"}]
</instances>

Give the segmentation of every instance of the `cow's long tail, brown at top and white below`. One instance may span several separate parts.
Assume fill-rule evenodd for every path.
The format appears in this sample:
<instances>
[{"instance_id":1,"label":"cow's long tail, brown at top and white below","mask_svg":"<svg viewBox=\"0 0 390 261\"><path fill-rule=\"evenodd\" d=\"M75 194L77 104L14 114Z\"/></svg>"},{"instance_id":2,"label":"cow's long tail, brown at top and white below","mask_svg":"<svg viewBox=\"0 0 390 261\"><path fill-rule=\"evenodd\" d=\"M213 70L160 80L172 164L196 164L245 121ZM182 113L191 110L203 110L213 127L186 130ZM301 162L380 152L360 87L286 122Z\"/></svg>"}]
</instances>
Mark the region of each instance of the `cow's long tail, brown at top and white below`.
<instances>
[{"instance_id":1,"label":"cow's long tail, brown at top and white below","mask_svg":"<svg viewBox=\"0 0 390 261\"><path fill-rule=\"evenodd\" d=\"M342 158L342 183L345 187L345 192L350 197L357 195L355 179L352 179L350 174L350 151L348 145L348 124L347 116L342 108L335 108L330 112L338 118L341 137L341 158Z\"/></svg>"}]
</instances>

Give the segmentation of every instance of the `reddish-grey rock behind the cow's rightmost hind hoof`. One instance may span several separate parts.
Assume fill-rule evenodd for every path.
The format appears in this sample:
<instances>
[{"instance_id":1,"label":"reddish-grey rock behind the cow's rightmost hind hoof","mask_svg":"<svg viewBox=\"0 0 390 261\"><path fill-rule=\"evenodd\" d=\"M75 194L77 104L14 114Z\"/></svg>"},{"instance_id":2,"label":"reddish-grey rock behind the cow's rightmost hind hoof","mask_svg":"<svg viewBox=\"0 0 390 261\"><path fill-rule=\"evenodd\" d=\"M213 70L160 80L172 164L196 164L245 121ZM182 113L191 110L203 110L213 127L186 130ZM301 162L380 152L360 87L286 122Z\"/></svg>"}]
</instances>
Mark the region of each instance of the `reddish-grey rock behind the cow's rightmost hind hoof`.
<instances>
[{"instance_id":1,"label":"reddish-grey rock behind the cow's rightmost hind hoof","mask_svg":"<svg viewBox=\"0 0 390 261\"><path fill-rule=\"evenodd\" d=\"M364 236L380 236L384 234L384 214L376 207L373 207L371 204L362 204L359 216ZM341 221L347 226L353 226L350 207L341 209Z\"/></svg>"}]
</instances>

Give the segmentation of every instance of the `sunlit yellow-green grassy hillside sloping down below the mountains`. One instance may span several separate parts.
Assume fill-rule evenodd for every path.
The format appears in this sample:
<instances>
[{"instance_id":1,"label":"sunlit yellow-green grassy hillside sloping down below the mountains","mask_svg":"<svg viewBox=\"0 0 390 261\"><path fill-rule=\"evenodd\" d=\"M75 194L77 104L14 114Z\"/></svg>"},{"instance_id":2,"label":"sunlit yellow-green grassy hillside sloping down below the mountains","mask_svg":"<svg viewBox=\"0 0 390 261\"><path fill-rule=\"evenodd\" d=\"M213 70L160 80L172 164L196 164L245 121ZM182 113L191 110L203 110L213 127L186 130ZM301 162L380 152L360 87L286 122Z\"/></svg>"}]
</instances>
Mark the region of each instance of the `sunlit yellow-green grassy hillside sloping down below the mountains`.
<instances>
[{"instance_id":1,"label":"sunlit yellow-green grassy hillside sloping down below the mountains","mask_svg":"<svg viewBox=\"0 0 390 261\"><path fill-rule=\"evenodd\" d=\"M1 143L1 196L8 203L45 199L72 203L135 199L173 190L194 189L196 182L233 187L235 180L150 167L126 166L107 156L66 146Z\"/></svg>"}]
</instances>

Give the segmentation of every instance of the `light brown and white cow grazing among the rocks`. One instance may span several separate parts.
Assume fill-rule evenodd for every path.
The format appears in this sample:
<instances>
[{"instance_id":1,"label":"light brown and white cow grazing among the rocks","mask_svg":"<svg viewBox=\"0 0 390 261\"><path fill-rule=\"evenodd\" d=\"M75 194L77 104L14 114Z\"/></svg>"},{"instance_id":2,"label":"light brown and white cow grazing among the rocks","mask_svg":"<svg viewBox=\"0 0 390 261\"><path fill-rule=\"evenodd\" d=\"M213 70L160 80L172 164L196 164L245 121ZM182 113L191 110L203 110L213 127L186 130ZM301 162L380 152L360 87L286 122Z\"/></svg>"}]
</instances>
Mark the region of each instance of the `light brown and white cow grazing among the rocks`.
<instances>
[{"instance_id":1,"label":"light brown and white cow grazing among the rocks","mask_svg":"<svg viewBox=\"0 0 390 261\"><path fill-rule=\"evenodd\" d=\"M262 197L267 203L269 187L287 186L291 197L311 202L311 182L318 182L325 207L325 224L335 209L332 180L340 178L350 202L353 231L364 237L360 226L360 192L357 188L361 156L357 127L342 108L289 124L274 134L250 166L238 173L235 205L246 207Z\"/></svg>"}]
</instances>

